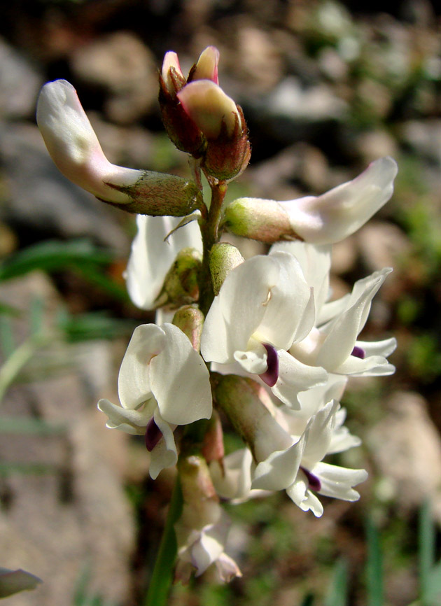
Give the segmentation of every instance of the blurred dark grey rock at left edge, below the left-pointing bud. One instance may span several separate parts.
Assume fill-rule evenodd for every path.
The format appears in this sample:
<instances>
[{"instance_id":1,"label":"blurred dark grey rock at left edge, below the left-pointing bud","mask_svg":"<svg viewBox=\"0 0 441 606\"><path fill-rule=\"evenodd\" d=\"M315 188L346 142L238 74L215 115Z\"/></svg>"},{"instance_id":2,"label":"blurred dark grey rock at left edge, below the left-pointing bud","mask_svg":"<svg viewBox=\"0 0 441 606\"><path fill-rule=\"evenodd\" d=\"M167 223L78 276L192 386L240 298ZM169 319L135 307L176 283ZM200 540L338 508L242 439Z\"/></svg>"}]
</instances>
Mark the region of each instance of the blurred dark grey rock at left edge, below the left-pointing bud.
<instances>
[{"instance_id":1,"label":"blurred dark grey rock at left edge, below the left-pointing bud","mask_svg":"<svg viewBox=\"0 0 441 606\"><path fill-rule=\"evenodd\" d=\"M36 127L3 127L0 157L6 183L0 220L14 227L22 244L44 237L87 237L127 254L129 243L118 213L62 176Z\"/></svg>"}]
</instances>

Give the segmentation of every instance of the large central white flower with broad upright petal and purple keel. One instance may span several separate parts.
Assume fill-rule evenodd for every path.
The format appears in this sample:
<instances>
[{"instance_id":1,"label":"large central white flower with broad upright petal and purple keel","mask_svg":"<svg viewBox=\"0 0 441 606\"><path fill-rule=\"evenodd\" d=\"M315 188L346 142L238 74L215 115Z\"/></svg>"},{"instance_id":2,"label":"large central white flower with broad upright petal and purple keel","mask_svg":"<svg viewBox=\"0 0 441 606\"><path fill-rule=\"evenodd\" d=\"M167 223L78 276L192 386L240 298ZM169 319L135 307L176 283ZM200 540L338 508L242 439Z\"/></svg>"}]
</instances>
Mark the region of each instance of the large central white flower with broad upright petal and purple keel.
<instances>
[{"instance_id":1,"label":"large central white flower with broad upright petal and purple keel","mask_svg":"<svg viewBox=\"0 0 441 606\"><path fill-rule=\"evenodd\" d=\"M232 269L207 314L201 353L207 362L238 362L285 402L327 379L286 350L314 327L314 297L289 253L258 255ZM275 392L274 392L275 393Z\"/></svg>"}]
</instances>

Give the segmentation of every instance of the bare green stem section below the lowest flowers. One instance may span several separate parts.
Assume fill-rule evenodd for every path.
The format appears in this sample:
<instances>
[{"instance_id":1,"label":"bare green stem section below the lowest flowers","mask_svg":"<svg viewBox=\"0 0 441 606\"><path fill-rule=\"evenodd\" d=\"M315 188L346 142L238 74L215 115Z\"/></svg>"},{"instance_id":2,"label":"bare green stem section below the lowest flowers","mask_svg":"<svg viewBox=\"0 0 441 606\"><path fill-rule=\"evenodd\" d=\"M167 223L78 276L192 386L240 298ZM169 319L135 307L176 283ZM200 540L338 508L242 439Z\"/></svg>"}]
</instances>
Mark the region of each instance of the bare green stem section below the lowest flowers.
<instances>
[{"instance_id":1,"label":"bare green stem section below the lowest flowers","mask_svg":"<svg viewBox=\"0 0 441 606\"><path fill-rule=\"evenodd\" d=\"M182 513L182 491L179 476L176 477L172 498L170 500L169 512L165 522L164 532L155 566L151 575L150 583L144 606L166 606L169 591L173 582L174 563L176 561L176 534L174 524L179 520Z\"/></svg>"}]
</instances>

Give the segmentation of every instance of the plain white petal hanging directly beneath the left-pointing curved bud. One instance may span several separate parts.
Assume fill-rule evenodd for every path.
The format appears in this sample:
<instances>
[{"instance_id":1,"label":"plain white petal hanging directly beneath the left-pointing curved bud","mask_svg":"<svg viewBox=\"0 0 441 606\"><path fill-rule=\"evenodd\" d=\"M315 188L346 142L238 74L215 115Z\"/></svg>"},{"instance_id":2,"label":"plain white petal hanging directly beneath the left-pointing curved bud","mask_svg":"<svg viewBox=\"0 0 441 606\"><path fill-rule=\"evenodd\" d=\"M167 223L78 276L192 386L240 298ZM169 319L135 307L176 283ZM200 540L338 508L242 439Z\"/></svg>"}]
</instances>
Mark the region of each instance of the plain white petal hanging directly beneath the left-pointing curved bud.
<instances>
[{"instance_id":1,"label":"plain white petal hanging directly beneath the left-pointing curved bud","mask_svg":"<svg viewBox=\"0 0 441 606\"><path fill-rule=\"evenodd\" d=\"M137 216L138 231L125 276L130 298L141 309L155 307L165 276L179 251L195 248L202 253L197 222L187 223L173 232L180 221L179 217Z\"/></svg>"}]
</instances>

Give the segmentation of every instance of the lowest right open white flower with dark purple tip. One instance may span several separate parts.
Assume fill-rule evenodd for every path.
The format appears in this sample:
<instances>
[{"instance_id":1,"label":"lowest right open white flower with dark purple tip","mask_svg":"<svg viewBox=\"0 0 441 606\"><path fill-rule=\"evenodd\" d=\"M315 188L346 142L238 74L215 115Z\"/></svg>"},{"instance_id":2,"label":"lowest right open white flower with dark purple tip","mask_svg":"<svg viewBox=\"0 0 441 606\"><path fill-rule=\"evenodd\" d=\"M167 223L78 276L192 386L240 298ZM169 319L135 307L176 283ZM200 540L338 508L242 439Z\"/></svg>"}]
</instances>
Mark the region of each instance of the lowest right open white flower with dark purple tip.
<instances>
[{"instance_id":1,"label":"lowest right open white flower with dark purple tip","mask_svg":"<svg viewBox=\"0 0 441 606\"><path fill-rule=\"evenodd\" d=\"M314 493L347 501L355 501L360 495L353 486L367 478L365 470L323 463L324 456L335 449L341 434L342 416L338 416L339 403L328 402L309 421L307 428L292 446L272 452L255 468L253 488L286 490L295 505L315 516L323 514L323 506ZM294 437L293 437L294 439ZM346 440L344 449L358 442ZM339 451L339 449L338 449Z\"/></svg>"}]
</instances>

